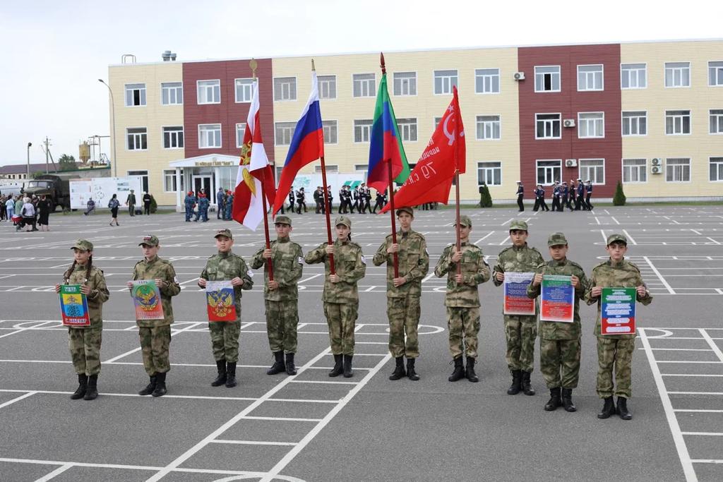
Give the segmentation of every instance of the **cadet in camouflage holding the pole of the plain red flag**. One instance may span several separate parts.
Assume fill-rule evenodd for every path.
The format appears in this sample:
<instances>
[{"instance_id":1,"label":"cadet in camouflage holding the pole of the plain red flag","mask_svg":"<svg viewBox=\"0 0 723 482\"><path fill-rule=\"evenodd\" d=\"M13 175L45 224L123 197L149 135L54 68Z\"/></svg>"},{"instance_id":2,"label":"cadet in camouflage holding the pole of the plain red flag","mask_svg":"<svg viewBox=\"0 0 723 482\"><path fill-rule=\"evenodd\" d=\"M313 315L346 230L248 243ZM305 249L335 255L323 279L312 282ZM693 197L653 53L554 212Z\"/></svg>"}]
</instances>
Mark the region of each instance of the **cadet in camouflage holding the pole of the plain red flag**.
<instances>
[{"instance_id":1,"label":"cadet in camouflage holding the pole of the plain red flag","mask_svg":"<svg viewBox=\"0 0 723 482\"><path fill-rule=\"evenodd\" d=\"M456 225L456 223L455 223ZM469 216L459 217L460 241L462 251L456 244L450 244L442 251L435 267L435 275L447 275L447 326L449 328L450 352L454 361L454 371L448 378L456 382L467 377L470 382L479 382L474 372L477 358L477 333L479 333L479 288L477 285L489 281L489 265L484 262L484 254L474 244L469 244L472 222ZM461 262L461 274L457 274L457 264ZM466 347L466 350L465 350ZM463 366L463 356L467 356L467 369Z\"/></svg>"}]
</instances>

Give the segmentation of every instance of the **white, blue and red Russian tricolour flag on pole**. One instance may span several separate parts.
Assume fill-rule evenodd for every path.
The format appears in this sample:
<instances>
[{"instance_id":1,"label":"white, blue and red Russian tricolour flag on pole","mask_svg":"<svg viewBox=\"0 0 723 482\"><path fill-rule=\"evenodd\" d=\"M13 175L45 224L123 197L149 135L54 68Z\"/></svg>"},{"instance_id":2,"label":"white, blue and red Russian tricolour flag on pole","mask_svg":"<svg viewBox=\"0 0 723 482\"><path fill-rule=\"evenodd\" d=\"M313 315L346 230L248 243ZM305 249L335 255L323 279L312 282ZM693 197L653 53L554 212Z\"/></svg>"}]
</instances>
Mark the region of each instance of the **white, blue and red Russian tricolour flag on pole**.
<instances>
[{"instance_id":1,"label":"white, blue and red Russian tricolour flag on pole","mask_svg":"<svg viewBox=\"0 0 723 482\"><path fill-rule=\"evenodd\" d=\"M321 123L321 109L319 107L319 85L316 71L312 71L312 92L309 101L301 111L301 119L296 123L294 137L288 148L286 161L283 163L281 178L276 189L276 198L273 203L273 214L283 206L288 190L294 184L294 178L299 169L312 163L324 155L324 128Z\"/></svg>"}]
</instances>

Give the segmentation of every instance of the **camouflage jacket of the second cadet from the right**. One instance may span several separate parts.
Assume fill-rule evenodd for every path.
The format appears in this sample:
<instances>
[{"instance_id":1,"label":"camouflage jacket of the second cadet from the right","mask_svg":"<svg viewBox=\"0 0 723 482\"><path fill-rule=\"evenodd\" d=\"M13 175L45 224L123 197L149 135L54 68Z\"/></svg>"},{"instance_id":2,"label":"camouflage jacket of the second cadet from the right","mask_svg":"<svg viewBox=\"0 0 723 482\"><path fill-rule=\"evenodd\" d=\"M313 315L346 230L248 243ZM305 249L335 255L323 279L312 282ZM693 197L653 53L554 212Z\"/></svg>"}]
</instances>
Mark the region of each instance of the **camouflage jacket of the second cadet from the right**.
<instances>
[{"instance_id":1,"label":"camouflage jacket of the second cadet from the right","mask_svg":"<svg viewBox=\"0 0 723 482\"><path fill-rule=\"evenodd\" d=\"M585 276L583 268L570 259L555 261L550 259L547 263L540 264L535 272L542 275L562 275L577 276L580 283L575 288L574 304L573 304L573 322L546 322L540 320L539 334L545 340L578 340L581 334L580 327L580 300L585 296L588 288L588 280ZM542 285L533 286L532 283L527 285L527 296L537 298L542 291Z\"/></svg>"}]
</instances>

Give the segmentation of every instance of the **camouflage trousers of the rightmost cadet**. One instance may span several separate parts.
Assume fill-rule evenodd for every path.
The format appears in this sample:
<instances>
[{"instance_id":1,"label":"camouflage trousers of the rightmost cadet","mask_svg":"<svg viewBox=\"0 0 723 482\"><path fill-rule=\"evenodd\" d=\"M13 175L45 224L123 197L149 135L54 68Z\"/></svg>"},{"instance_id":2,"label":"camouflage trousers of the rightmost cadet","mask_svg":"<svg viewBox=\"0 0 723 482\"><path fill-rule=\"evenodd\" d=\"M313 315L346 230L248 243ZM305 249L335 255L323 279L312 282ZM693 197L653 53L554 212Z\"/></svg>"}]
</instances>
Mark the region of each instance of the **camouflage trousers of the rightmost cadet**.
<instances>
[{"instance_id":1,"label":"camouflage trousers of the rightmost cadet","mask_svg":"<svg viewBox=\"0 0 723 482\"><path fill-rule=\"evenodd\" d=\"M633 352L635 338L597 337L597 395L600 398L630 398L633 384ZM615 365L615 367L613 367ZM612 370L615 368L615 391L613 392Z\"/></svg>"}]
</instances>

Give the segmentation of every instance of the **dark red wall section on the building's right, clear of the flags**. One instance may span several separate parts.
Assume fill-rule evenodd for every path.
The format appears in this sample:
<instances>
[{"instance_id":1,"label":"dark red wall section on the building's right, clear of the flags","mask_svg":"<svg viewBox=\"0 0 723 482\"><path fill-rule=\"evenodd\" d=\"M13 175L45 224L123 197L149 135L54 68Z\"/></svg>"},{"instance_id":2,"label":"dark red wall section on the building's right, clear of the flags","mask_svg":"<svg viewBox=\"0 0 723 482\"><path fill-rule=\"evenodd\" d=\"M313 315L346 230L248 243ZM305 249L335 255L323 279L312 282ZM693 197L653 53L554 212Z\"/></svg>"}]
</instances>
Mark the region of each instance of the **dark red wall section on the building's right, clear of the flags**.
<instances>
[{"instance_id":1,"label":"dark red wall section on the building's right, clear of the flags","mask_svg":"<svg viewBox=\"0 0 723 482\"><path fill-rule=\"evenodd\" d=\"M602 64L602 91L578 92L578 65ZM560 66L560 92L535 92L535 66ZM520 179L525 197L534 198L536 160L562 160L562 179L577 179L580 159L605 160L605 184L594 186L593 197L612 197L622 176L623 139L620 133L620 45L525 47L518 49L518 69L526 79L519 82ZM578 112L604 112L605 137L578 139ZM562 127L562 139L535 139L536 113L562 113L575 119L575 127ZM577 159L578 167L565 167L565 159ZM585 179L583 179L585 181ZM510 184L510 189L513 186ZM547 196L552 189L547 188ZM513 194L510 191L510 194Z\"/></svg>"}]
</instances>

